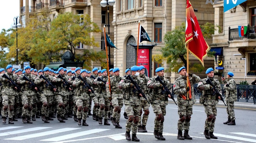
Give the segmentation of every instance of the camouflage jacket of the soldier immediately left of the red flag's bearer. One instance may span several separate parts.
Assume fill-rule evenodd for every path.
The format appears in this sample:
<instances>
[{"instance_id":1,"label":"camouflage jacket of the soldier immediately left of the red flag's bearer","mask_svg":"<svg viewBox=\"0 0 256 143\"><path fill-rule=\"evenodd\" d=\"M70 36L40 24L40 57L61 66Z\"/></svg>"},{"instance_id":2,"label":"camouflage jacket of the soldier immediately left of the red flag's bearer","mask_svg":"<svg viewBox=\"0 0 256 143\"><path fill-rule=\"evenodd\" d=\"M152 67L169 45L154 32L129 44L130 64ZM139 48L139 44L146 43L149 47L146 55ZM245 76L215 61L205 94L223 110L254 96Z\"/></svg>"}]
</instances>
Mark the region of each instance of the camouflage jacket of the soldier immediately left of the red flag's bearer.
<instances>
[{"instance_id":1,"label":"camouflage jacket of the soldier immediately left of the red flag's bearer","mask_svg":"<svg viewBox=\"0 0 256 143\"><path fill-rule=\"evenodd\" d=\"M165 86L170 89L170 82L165 77L160 79L164 82ZM162 89L160 88L160 82L155 80L155 77L149 78L147 87L150 89L149 100L151 104L158 104L161 106L166 106L168 104L168 97L162 94Z\"/></svg>"}]
</instances>

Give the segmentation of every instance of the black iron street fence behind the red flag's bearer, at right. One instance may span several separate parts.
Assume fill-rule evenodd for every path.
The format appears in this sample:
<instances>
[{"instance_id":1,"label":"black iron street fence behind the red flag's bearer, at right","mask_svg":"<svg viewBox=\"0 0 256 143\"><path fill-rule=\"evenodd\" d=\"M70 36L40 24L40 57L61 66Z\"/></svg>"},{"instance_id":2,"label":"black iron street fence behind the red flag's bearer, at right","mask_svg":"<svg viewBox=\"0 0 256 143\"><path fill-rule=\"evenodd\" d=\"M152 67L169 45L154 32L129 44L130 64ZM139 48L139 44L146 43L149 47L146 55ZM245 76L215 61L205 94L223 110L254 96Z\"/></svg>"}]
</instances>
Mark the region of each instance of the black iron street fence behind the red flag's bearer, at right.
<instances>
[{"instance_id":1,"label":"black iron street fence behind the red flag's bearer, at right","mask_svg":"<svg viewBox=\"0 0 256 143\"><path fill-rule=\"evenodd\" d=\"M224 85L221 85L222 88L222 97L224 96ZM238 102L248 102L248 103L256 103L256 85L236 85L237 88L237 101ZM170 91L173 93L173 84L171 84ZM195 98L199 99L202 95L202 92L197 89L197 84L194 84L194 94ZM177 95L174 95L176 98Z\"/></svg>"}]
</instances>

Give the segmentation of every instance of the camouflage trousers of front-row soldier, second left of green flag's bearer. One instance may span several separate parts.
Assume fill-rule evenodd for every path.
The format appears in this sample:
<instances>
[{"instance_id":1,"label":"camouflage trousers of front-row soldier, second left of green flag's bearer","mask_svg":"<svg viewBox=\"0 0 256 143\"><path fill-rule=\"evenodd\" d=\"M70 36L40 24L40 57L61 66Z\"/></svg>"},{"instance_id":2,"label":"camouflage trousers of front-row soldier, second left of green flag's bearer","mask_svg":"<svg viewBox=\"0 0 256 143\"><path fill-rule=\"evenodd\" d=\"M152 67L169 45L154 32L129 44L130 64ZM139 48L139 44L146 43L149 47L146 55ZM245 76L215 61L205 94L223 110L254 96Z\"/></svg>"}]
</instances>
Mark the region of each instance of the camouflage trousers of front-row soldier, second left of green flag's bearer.
<instances>
[{"instance_id":1,"label":"camouflage trousers of front-row soldier, second left of green flag's bearer","mask_svg":"<svg viewBox=\"0 0 256 143\"><path fill-rule=\"evenodd\" d=\"M76 99L76 106L78 107L77 112L76 112L76 116L77 118L81 118L82 117L82 113L83 113L83 120L87 119L87 114L88 114L88 109L89 109L89 105L90 105L90 99ZM82 107L81 111L79 111L79 106Z\"/></svg>"}]
</instances>

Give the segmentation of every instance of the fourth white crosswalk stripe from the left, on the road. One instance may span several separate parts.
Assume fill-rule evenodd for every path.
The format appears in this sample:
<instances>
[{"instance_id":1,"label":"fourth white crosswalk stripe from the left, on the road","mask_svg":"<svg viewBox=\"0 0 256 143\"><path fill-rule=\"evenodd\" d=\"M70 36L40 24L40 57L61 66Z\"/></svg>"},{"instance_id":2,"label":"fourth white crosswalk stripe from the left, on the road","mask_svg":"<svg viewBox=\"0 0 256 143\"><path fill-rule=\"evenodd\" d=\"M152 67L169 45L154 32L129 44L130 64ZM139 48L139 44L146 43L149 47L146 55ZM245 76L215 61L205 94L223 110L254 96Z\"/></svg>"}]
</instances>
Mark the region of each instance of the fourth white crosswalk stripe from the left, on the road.
<instances>
[{"instance_id":1,"label":"fourth white crosswalk stripe from the left, on the road","mask_svg":"<svg viewBox=\"0 0 256 143\"><path fill-rule=\"evenodd\" d=\"M54 138L48 138L48 139L44 139L44 140L40 140L40 141L62 141L62 140L70 139L70 138L76 138L76 137L80 137L80 136L84 136L84 135L88 135L88 134L94 134L94 133L98 133L98 132L102 132L102 131L107 131L107 130L110 130L110 129L93 129L93 130L81 131L81 132L63 135L63 136L54 137Z\"/></svg>"}]
</instances>

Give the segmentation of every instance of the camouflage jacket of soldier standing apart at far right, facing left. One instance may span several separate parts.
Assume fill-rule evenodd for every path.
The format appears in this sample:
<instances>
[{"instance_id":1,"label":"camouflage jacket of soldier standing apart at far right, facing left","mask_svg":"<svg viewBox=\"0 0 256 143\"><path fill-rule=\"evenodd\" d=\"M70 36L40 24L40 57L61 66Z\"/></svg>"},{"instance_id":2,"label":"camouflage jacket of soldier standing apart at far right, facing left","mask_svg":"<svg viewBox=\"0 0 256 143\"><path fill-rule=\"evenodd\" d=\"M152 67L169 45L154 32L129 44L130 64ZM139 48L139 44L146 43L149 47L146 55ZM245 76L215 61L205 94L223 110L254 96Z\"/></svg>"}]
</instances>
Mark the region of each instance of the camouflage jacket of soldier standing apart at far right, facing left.
<instances>
[{"instance_id":1,"label":"camouflage jacket of soldier standing apart at far right, facing left","mask_svg":"<svg viewBox=\"0 0 256 143\"><path fill-rule=\"evenodd\" d=\"M228 87L226 86L226 84L224 85L225 100L229 102L237 101L237 89L234 78L230 77L228 79L225 79L223 82L229 84Z\"/></svg>"}]
</instances>

